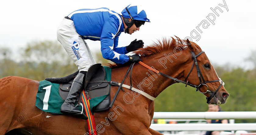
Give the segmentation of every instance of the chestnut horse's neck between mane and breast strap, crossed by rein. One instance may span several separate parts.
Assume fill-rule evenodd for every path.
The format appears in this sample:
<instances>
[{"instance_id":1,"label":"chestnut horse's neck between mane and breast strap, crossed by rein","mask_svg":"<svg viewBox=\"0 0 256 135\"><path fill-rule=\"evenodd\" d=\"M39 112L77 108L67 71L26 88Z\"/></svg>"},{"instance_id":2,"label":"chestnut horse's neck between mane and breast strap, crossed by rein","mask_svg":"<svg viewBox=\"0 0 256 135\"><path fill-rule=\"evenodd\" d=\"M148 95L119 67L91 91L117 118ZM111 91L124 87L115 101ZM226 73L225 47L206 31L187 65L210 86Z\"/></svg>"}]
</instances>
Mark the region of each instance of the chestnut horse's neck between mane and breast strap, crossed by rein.
<instances>
[{"instance_id":1,"label":"chestnut horse's neck between mane and breast strap, crossed by rein","mask_svg":"<svg viewBox=\"0 0 256 135\"><path fill-rule=\"evenodd\" d=\"M165 55L163 54L162 57L165 57ZM181 64L183 63L181 56L177 57L176 59L173 58L173 62L169 61L168 58L165 57L167 60L165 67L159 62L162 57L159 57L159 59L148 58L143 62L173 78L180 79L184 77L183 70L180 68ZM157 74L140 64L136 64L134 66L132 78L135 84L133 86L136 86L138 89L143 90L153 97L157 97L165 88L174 83L174 80Z\"/></svg>"}]
</instances>

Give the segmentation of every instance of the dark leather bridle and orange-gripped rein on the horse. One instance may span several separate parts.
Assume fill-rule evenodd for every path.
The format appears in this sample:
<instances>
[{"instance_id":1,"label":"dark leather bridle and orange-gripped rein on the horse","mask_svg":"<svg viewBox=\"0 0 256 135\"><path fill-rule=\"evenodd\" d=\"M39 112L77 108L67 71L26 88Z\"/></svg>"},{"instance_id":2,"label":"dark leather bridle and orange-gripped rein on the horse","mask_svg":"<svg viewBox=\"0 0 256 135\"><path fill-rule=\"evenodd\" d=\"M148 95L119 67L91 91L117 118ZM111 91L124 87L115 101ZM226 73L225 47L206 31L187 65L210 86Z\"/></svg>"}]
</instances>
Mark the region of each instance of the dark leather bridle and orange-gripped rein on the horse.
<instances>
[{"instance_id":1,"label":"dark leather bridle and orange-gripped rein on the horse","mask_svg":"<svg viewBox=\"0 0 256 135\"><path fill-rule=\"evenodd\" d=\"M151 71L154 71L154 72L156 72L156 73L158 73L158 74L161 74L161 75L163 75L163 76L165 76L165 77L167 77L167 78L170 78L170 79L174 80L174 82L177 82L177 83L181 82L181 83L183 83L183 84L186 84L185 87L187 87L187 85L189 85L189 86L191 86L191 87L193 87L193 88L196 88L196 91L199 91L200 93L203 93L203 94L206 93L206 92L211 92L212 94L210 95L210 97L206 97L207 103L209 104L209 103L210 103L210 100L211 100L211 99L216 95L216 93L219 91L219 89L220 89L220 87L221 87L221 85L222 85L223 82L222 82L222 80L205 81L205 80L204 80L204 77L203 77L203 75L202 75L202 72L201 72L201 70L200 70L200 68L199 68L199 66L198 66L198 63L197 63L197 57L198 57L199 55L201 55L202 53L204 53L204 51L201 51L201 52L198 53L197 55L195 55L195 53L194 53L193 51L191 51L191 53L192 53L192 56L193 56L192 58L194 59L194 62L193 62L193 65L192 65L192 67L191 67L191 69L190 69L190 72L188 73L188 75L187 75L185 81L181 81L181 80L179 80L179 79L177 79L177 78L173 78L173 77L171 77L171 76L169 76L169 75L167 75L167 74L164 74L164 73L162 73L162 72L159 72L159 71L157 71L157 70L155 70L155 69L149 67L148 65L142 63L141 61L139 61L139 63L140 63L141 65L143 65L144 67L147 67L147 68L150 69ZM198 86L197 86L197 85L190 84L190 83L188 83L188 81L186 82L188 76L190 75L190 73L191 73L191 71L192 71L192 69L193 69L193 67L194 67L194 64L196 65L196 68L197 68L197 75L198 75L198 78L199 78L199 80L200 80L200 85L198 85ZM206 85L206 83L209 83L209 82L216 82L216 81L221 81L221 84L219 85L219 87L217 88L217 90L216 90L215 92L209 91L209 87ZM199 90L203 85L207 86L207 91L206 91L206 92L201 92L201 91Z\"/></svg>"}]
</instances>

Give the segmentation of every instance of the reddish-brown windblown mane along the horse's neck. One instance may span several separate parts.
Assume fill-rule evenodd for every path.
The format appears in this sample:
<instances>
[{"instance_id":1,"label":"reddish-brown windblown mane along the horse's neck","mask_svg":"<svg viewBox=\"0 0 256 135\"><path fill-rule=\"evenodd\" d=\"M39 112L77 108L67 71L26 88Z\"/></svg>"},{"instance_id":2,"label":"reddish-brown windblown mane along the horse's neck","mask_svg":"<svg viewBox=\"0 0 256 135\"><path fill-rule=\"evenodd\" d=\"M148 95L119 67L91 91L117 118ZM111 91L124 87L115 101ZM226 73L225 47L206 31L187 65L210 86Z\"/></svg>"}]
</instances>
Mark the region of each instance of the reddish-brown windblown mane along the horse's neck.
<instances>
[{"instance_id":1,"label":"reddish-brown windblown mane along the horse's neck","mask_svg":"<svg viewBox=\"0 0 256 135\"><path fill-rule=\"evenodd\" d=\"M170 52L173 51L175 47L179 47L181 49L187 48L187 44L186 41L181 40L179 37L175 36L176 39L174 39L173 37L167 39L167 38L163 38L162 41L161 40L157 40L157 42L153 42L151 45L138 49L136 51L134 51L135 54L140 54L140 57L149 57L149 56L153 56L153 55L157 55L160 54L162 52ZM201 48L194 42L192 42L192 44L194 44L198 49L201 50ZM117 68L117 67L123 67L128 65L128 63L125 64L111 64L111 63L107 63L107 66L111 67L111 68ZM130 63L129 63L130 65Z\"/></svg>"}]
</instances>

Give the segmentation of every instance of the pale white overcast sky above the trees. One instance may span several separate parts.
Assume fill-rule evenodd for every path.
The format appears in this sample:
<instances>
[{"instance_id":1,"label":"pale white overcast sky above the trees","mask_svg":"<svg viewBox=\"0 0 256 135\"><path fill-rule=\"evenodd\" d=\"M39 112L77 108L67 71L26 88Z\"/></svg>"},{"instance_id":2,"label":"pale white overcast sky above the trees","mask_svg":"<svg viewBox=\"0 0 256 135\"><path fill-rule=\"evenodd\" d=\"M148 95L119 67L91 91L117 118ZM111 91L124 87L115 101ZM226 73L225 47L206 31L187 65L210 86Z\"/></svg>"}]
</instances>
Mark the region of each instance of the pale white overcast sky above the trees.
<instances>
[{"instance_id":1,"label":"pale white overcast sky above the trees","mask_svg":"<svg viewBox=\"0 0 256 135\"><path fill-rule=\"evenodd\" d=\"M198 41L192 38L193 42L205 51L213 63L245 67L247 63L244 59L256 50L256 1L225 2L228 11L221 6L225 5L223 0L5 0L0 4L0 47L18 50L32 40L57 40L57 26L64 16L77 9L107 7L121 14L127 5L137 3L144 8L151 22L146 22L132 35L122 33L120 47L129 45L135 38L143 40L145 45L174 35L184 39L195 30L201 37ZM223 11L216 10L219 16L210 9L217 6ZM211 13L215 16L214 25L207 19L209 14L209 19L213 19ZM210 25L205 29L199 26L200 33L196 27L203 20ZM87 40L87 43L91 50L100 50L99 41Z\"/></svg>"}]
</instances>

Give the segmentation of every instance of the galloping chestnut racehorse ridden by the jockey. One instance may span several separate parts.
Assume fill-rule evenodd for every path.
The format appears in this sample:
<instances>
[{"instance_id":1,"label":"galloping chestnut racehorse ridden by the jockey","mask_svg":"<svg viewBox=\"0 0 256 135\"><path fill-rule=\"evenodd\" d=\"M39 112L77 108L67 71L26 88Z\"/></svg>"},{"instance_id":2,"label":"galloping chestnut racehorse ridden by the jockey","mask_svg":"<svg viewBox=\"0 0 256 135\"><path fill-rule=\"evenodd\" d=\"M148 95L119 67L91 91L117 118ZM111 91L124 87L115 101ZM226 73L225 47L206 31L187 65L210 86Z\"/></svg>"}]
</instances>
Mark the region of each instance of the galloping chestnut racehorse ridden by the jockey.
<instances>
[{"instance_id":1,"label":"galloping chestnut racehorse ridden by the jockey","mask_svg":"<svg viewBox=\"0 0 256 135\"><path fill-rule=\"evenodd\" d=\"M196 66L192 67L194 59L191 52L197 55L202 50L196 43L190 43L188 40L186 43L178 37L177 39L163 39L163 41L135 51L136 54L141 55L143 63L149 67L154 67L178 80L188 80L189 84L199 86L201 84L198 78L199 73ZM202 85L199 91L210 97L218 89L209 102L224 104L229 94L219 81L205 53L197 56L197 63L204 81L218 80L207 83L207 86ZM111 80L121 82L130 65L110 66L112 67ZM157 97L165 88L176 82L177 80L174 81L149 71L141 64L136 63L133 66L133 87L153 97ZM123 84L130 85L130 77L126 77ZM13 129L37 135L88 134L86 120L71 115L52 115L38 109L35 106L38 86L39 81L22 77L8 76L0 79L0 135ZM111 86L111 99L117 89L117 86ZM150 128L154 115L154 101L130 89L124 88L124 90L119 92L112 108L94 112L97 133L102 135L160 135L161 133Z\"/></svg>"}]
</instances>

